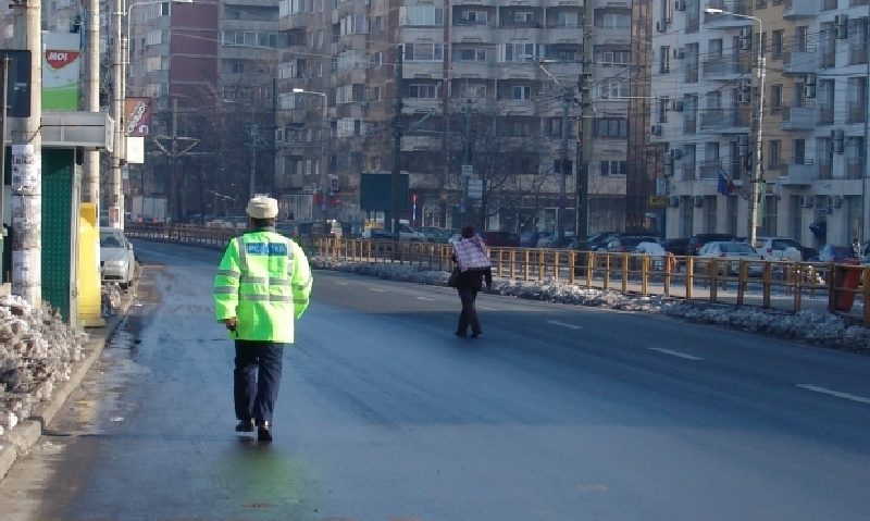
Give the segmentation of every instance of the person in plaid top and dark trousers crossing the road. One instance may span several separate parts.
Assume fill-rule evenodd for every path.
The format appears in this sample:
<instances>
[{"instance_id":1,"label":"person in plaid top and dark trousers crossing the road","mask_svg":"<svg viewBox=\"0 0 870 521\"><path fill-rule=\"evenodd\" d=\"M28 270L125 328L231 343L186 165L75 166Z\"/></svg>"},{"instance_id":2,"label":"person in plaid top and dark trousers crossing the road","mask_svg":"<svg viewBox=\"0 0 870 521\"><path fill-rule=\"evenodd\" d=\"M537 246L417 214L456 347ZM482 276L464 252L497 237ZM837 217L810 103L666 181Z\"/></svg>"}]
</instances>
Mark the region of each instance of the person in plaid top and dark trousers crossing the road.
<instances>
[{"instance_id":1,"label":"person in plaid top and dark trousers crossing the road","mask_svg":"<svg viewBox=\"0 0 870 521\"><path fill-rule=\"evenodd\" d=\"M477 318L475 301L477 293L483 288L484 281L486 289L493 289L493 271L486 245L478 235L475 235L472 226L462 228L461 238L453 244L452 260L459 265L456 290L462 303L455 334L465 337L471 327L471 337L477 338L483 334L483 330L481 330L481 321Z\"/></svg>"}]
</instances>

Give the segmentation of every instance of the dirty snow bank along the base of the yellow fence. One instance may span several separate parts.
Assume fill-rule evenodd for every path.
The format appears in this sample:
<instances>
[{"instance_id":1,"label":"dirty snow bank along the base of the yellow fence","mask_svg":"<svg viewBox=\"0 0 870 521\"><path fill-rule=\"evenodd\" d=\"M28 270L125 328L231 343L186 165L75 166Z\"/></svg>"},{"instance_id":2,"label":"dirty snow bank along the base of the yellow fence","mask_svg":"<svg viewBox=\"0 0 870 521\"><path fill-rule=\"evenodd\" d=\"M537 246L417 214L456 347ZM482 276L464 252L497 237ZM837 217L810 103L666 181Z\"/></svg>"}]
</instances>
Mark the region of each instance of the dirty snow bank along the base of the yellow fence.
<instances>
[{"instance_id":1,"label":"dirty snow bank along the base of the yellow fence","mask_svg":"<svg viewBox=\"0 0 870 521\"><path fill-rule=\"evenodd\" d=\"M311 265L419 284L446 285L448 273L422 270L412 265L345 262L312 257ZM622 295L619 291L586 289L557 282L494 281L493 291L515 298L544 300L575 306L609 308L623 311L662 313L692 322L731 327L807 342L815 345L870 352L870 327L840 315L815 311L797 313L753 307L675 300L663 296Z\"/></svg>"}]
</instances>

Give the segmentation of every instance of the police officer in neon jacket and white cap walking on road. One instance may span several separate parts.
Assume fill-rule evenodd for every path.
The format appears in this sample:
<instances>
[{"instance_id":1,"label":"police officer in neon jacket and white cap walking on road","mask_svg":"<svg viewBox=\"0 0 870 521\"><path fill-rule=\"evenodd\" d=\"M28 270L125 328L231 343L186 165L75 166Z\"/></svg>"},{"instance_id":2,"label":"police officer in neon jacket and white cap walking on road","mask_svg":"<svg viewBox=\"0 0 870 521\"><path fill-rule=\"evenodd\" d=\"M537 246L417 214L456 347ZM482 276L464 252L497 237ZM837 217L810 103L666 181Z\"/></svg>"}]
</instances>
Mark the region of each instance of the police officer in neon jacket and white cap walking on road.
<instances>
[{"instance_id":1,"label":"police officer in neon jacket and white cap walking on road","mask_svg":"<svg viewBox=\"0 0 870 521\"><path fill-rule=\"evenodd\" d=\"M275 199L254 197L246 212L249 230L229 241L214 276L214 308L235 339L236 431L257 427L257 438L271 442L283 348L294 342L313 278L302 248L275 233Z\"/></svg>"}]
</instances>

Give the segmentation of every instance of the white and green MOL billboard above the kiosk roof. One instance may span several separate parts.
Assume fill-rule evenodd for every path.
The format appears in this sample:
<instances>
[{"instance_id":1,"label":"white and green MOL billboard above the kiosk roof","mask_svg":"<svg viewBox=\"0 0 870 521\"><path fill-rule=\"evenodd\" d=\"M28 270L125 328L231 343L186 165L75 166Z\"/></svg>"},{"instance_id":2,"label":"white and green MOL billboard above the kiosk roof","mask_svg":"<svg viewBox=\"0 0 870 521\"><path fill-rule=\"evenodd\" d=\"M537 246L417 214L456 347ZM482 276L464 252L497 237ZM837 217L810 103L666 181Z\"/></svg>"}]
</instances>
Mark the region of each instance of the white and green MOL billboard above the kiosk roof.
<instances>
[{"instance_id":1,"label":"white and green MOL billboard above the kiosk roof","mask_svg":"<svg viewBox=\"0 0 870 521\"><path fill-rule=\"evenodd\" d=\"M78 70L82 62L80 35L42 35L42 110L78 110Z\"/></svg>"}]
</instances>

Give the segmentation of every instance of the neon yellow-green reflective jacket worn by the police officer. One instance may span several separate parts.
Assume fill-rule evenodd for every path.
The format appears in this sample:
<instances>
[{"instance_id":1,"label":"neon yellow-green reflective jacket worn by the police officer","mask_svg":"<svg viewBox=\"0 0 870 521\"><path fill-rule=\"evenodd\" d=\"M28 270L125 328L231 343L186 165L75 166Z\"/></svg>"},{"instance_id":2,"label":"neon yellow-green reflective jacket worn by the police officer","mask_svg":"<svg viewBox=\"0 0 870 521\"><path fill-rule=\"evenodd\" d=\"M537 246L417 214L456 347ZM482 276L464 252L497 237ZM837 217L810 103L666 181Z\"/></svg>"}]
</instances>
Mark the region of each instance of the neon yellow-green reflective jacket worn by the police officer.
<instances>
[{"instance_id":1,"label":"neon yellow-green reflective jacket worn by the police officer","mask_svg":"<svg viewBox=\"0 0 870 521\"><path fill-rule=\"evenodd\" d=\"M313 282L302 248L273 228L229 241L214 276L217 321L235 318L240 340L294 342L294 319L308 308Z\"/></svg>"}]
</instances>

